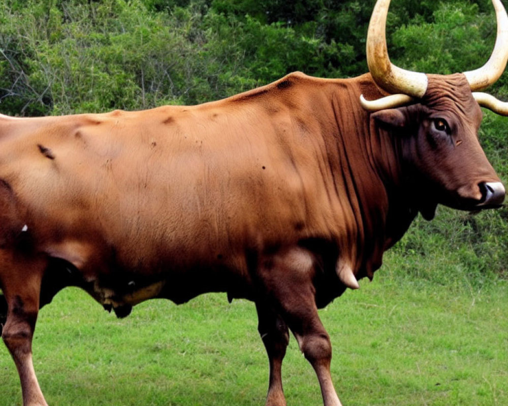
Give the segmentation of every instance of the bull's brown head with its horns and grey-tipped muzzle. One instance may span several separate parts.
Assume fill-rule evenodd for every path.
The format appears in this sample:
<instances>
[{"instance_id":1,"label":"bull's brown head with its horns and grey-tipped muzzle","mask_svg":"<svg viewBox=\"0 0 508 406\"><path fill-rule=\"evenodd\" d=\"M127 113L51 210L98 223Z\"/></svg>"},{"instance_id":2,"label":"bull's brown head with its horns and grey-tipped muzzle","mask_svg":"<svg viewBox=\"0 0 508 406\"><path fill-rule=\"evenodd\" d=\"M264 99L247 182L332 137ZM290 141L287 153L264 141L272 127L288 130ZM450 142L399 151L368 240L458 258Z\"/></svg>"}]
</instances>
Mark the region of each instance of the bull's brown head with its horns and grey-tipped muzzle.
<instances>
[{"instance_id":1,"label":"bull's brown head with its horns and grey-tipped muzzle","mask_svg":"<svg viewBox=\"0 0 508 406\"><path fill-rule=\"evenodd\" d=\"M432 188L438 202L464 210L498 207L505 195L478 142L480 106L508 115L508 103L475 92L494 83L508 60L508 16L500 0L492 3L498 26L496 44L488 62L474 71L427 75L393 65L385 32L390 0L377 1L367 35L369 71L391 95L371 101L362 96L362 106L375 112L377 120L410 132L404 149L412 168ZM401 106L409 107L396 109ZM433 210L428 216L432 214Z\"/></svg>"}]
</instances>

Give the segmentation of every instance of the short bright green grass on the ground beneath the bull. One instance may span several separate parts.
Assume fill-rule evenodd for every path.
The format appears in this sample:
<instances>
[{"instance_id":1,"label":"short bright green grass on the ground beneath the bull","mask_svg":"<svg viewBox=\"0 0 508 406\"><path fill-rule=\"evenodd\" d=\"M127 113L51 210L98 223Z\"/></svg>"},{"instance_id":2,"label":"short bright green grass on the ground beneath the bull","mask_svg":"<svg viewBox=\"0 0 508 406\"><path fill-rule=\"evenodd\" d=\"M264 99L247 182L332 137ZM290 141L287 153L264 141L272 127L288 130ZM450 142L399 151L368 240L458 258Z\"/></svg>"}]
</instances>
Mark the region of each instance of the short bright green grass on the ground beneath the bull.
<instances>
[{"instance_id":1,"label":"short bright green grass on the ground beneath the bull","mask_svg":"<svg viewBox=\"0 0 508 406\"><path fill-rule=\"evenodd\" d=\"M399 278L389 255L321 311L345 405L508 404L508 284L450 288ZM204 295L152 300L117 320L67 289L40 313L35 367L51 406L261 405L268 366L253 304ZM292 338L283 379L290 405L320 404L317 380ZM0 347L1 406L21 405Z\"/></svg>"}]
</instances>

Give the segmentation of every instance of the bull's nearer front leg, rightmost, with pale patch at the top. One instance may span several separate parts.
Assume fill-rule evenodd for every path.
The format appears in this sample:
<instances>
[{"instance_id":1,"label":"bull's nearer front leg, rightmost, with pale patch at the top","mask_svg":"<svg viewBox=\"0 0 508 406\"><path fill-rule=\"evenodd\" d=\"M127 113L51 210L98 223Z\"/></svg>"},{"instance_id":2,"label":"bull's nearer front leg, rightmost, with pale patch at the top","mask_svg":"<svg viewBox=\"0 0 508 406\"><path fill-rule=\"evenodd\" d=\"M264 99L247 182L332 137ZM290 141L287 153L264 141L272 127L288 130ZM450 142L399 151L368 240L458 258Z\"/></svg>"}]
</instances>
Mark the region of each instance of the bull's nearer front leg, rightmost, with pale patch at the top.
<instances>
[{"instance_id":1,"label":"bull's nearer front leg, rightmost, with pale patch at the top","mask_svg":"<svg viewBox=\"0 0 508 406\"><path fill-rule=\"evenodd\" d=\"M332 346L315 303L314 257L291 248L264 258L259 276L271 301L295 334L301 351L315 370L325 406L341 406L330 374Z\"/></svg>"}]
</instances>

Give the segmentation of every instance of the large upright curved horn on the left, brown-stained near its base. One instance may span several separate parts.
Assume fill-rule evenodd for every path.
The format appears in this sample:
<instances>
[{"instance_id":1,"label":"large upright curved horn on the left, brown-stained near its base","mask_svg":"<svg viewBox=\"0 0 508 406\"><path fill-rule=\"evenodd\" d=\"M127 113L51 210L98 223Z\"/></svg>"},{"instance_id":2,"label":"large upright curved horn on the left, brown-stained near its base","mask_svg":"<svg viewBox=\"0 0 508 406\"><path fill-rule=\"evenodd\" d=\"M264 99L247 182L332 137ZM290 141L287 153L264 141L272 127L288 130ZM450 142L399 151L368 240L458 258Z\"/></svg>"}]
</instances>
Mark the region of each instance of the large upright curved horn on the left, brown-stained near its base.
<instances>
[{"instance_id":1,"label":"large upright curved horn on the left, brown-stained near its base","mask_svg":"<svg viewBox=\"0 0 508 406\"><path fill-rule=\"evenodd\" d=\"M496 0L499 1L499 0ZM390 62L386 44L386 18L390 0L377 0L367 32L367 65L376 84L389 93L422 97L427 75L401 69Z\"/></svg>"}]
</instances>

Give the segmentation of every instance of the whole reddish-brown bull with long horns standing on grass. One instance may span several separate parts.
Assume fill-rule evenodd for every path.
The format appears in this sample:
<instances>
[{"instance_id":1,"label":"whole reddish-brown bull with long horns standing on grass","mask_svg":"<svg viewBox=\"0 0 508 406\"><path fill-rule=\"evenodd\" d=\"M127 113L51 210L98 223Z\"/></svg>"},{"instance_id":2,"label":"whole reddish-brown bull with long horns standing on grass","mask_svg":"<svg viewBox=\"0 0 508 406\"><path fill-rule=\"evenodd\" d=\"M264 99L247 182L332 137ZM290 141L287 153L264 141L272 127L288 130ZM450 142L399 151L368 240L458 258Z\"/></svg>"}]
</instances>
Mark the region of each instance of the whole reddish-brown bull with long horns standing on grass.
<instances>
[{"instance_id":1,"label":"whole reddish-brown bull with long horns standing on grass","mask_svg":"<svg viewBox=\"0 0 508 406\"><path fill-rule=\"evenodd\" d=\"M118 316L153 297L253 300L270 363L267 404L285 404L291 330L325 405L339 405L317 309L372 278L418 212L431 219L439 203L503 202L477 130L479 103L508 109L471 92L497 80L508 58L508 17L493 3L493 55L465 74L392 65L389 1L379 0L370 74L358 78L294 73L200 106L2 116L0 321L23 404L46 405L31 360L39 308L74 285Z\"/></svg>"}]
</instances>

